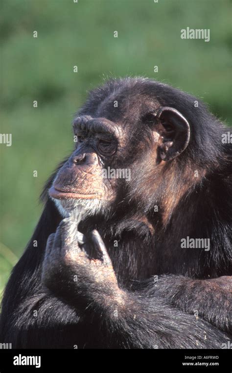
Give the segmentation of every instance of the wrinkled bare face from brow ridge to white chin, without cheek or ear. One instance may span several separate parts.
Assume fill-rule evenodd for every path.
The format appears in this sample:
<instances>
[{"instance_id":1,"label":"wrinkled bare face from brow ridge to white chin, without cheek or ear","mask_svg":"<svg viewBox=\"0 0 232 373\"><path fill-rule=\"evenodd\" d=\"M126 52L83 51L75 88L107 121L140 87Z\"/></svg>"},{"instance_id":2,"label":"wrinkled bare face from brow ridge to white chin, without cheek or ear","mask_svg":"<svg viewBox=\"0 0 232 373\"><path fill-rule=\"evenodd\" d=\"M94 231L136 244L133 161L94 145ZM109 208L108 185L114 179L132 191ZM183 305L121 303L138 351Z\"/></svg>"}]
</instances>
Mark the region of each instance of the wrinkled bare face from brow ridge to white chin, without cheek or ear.
<instances>
[{"instance_id":1,"label":"wrinkled bare face from brow ridge to white chin, without cheek or ear","mask_svg":"<svg viewBox=\"0 0 232 373\"><path fill-rule=\"evenodd\" d=\"M111 167L122 137L105 118L78 117L73 128L76 149L56 175L49 195L64 216L78 204L92 215L116 199L116 179L105 177L103 170Z\"/></svg>"}]
</instances>

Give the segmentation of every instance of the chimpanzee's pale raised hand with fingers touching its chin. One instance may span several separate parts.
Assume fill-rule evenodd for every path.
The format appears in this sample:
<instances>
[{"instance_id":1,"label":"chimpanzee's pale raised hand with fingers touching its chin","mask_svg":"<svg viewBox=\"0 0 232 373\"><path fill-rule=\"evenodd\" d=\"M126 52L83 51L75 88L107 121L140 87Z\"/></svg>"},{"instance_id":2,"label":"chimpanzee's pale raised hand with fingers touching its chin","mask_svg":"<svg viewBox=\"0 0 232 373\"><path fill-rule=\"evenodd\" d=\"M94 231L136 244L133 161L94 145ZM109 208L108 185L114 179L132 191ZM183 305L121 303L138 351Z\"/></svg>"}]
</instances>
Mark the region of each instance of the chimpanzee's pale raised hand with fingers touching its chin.
<instances>
[{"instance_id":1,"label":"chimpanzee's pale raised hand with fingers touching its chin","mask_svg":"<svg viewBox=\"0 0 232 373\"><path fill-rule=\"evenodd\" d=\"M90 240L78 231L83 211L78 206L48 237L42 282L64 298L102 302L121 294L107 249L96 230ZM95 257L92 257L95 250Z\"/></svg>"}]
</instances>

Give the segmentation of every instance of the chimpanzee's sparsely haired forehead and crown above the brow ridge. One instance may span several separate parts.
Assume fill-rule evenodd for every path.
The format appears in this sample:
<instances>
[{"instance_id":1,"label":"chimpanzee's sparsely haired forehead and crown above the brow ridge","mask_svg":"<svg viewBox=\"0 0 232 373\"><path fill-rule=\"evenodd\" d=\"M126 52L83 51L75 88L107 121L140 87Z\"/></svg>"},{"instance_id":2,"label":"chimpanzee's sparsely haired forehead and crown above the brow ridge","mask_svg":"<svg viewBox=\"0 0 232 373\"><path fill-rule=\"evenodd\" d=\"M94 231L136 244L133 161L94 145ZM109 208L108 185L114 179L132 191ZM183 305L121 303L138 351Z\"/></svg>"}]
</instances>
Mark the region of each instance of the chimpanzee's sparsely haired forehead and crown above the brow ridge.
<instances>
[{"instance_id":1,"label":"chimpanzee's sparsely haired forehead and crown above the brow ridge","mask_svg":"<svg viewBox=\"0 0 232 373\"><path fill-rule=\"evenodd\" d=\"M163 96L173 97L172 91L172 87L147 78L112 79L90 92L76 116L106 118L117 125L134 126L142 115L166 103Z\"/></svg>"}]
</instances>

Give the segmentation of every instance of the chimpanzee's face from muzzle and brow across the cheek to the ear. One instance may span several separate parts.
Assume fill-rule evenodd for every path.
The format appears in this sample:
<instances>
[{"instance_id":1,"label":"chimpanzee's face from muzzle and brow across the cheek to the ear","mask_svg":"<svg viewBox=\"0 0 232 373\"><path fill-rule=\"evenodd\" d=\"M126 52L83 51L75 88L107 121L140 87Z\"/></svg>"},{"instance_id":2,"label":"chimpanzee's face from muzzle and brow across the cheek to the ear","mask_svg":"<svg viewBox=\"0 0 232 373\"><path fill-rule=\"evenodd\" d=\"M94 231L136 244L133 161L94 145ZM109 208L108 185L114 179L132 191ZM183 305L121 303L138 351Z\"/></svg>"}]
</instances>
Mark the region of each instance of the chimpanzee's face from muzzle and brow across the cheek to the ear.
<instances>
[{"instance_id":1,"label":"chimpanzee's face from muzzle and brow across the cheek to the ear","mask_svg":"<svg viewBox=\"0 0 232 373\"><path fill-rule=\"evenodd\" d=\"M74 120L76 149L49 190L63 216L78 204L85 207L87 215L105 214L114 201L131 200L131 191L147 205L147 191L148 198L154 195L154 180L162 179L165 163L188 145L186 119L171 107L161 107L154 98L127 98L120 114L107 105L99 106L101 110L93 116L81 115ZM112 176L108 169L130 170L131 180Z\"/></svg>"}]
</instances>

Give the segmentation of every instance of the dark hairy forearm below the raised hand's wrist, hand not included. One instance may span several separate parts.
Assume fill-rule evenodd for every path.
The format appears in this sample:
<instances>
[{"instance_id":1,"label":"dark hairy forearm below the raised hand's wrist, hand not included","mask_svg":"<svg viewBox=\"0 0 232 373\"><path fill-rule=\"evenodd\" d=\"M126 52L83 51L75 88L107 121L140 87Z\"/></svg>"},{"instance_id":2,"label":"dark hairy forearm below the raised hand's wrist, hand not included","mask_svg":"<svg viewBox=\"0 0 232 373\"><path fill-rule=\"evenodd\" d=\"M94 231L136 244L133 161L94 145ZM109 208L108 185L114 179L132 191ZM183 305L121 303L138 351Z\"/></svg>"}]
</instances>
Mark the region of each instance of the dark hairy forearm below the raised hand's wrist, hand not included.
<instances>
[{"instance_id":1,"label":"dark hairy forearm below the raised hand's wrist, hand not included","mask_svg":"<svg viewBox=\"0 0 232 373\"><path fill-rule=\"evenodd\" d=\"M89 312L98 318L113 348L222 348L226 333L194 316L167 306L159 297L124 292L119 299L99 299ZM97 325L97 323L95 323Z\"/></svg>"}]
</instances>

